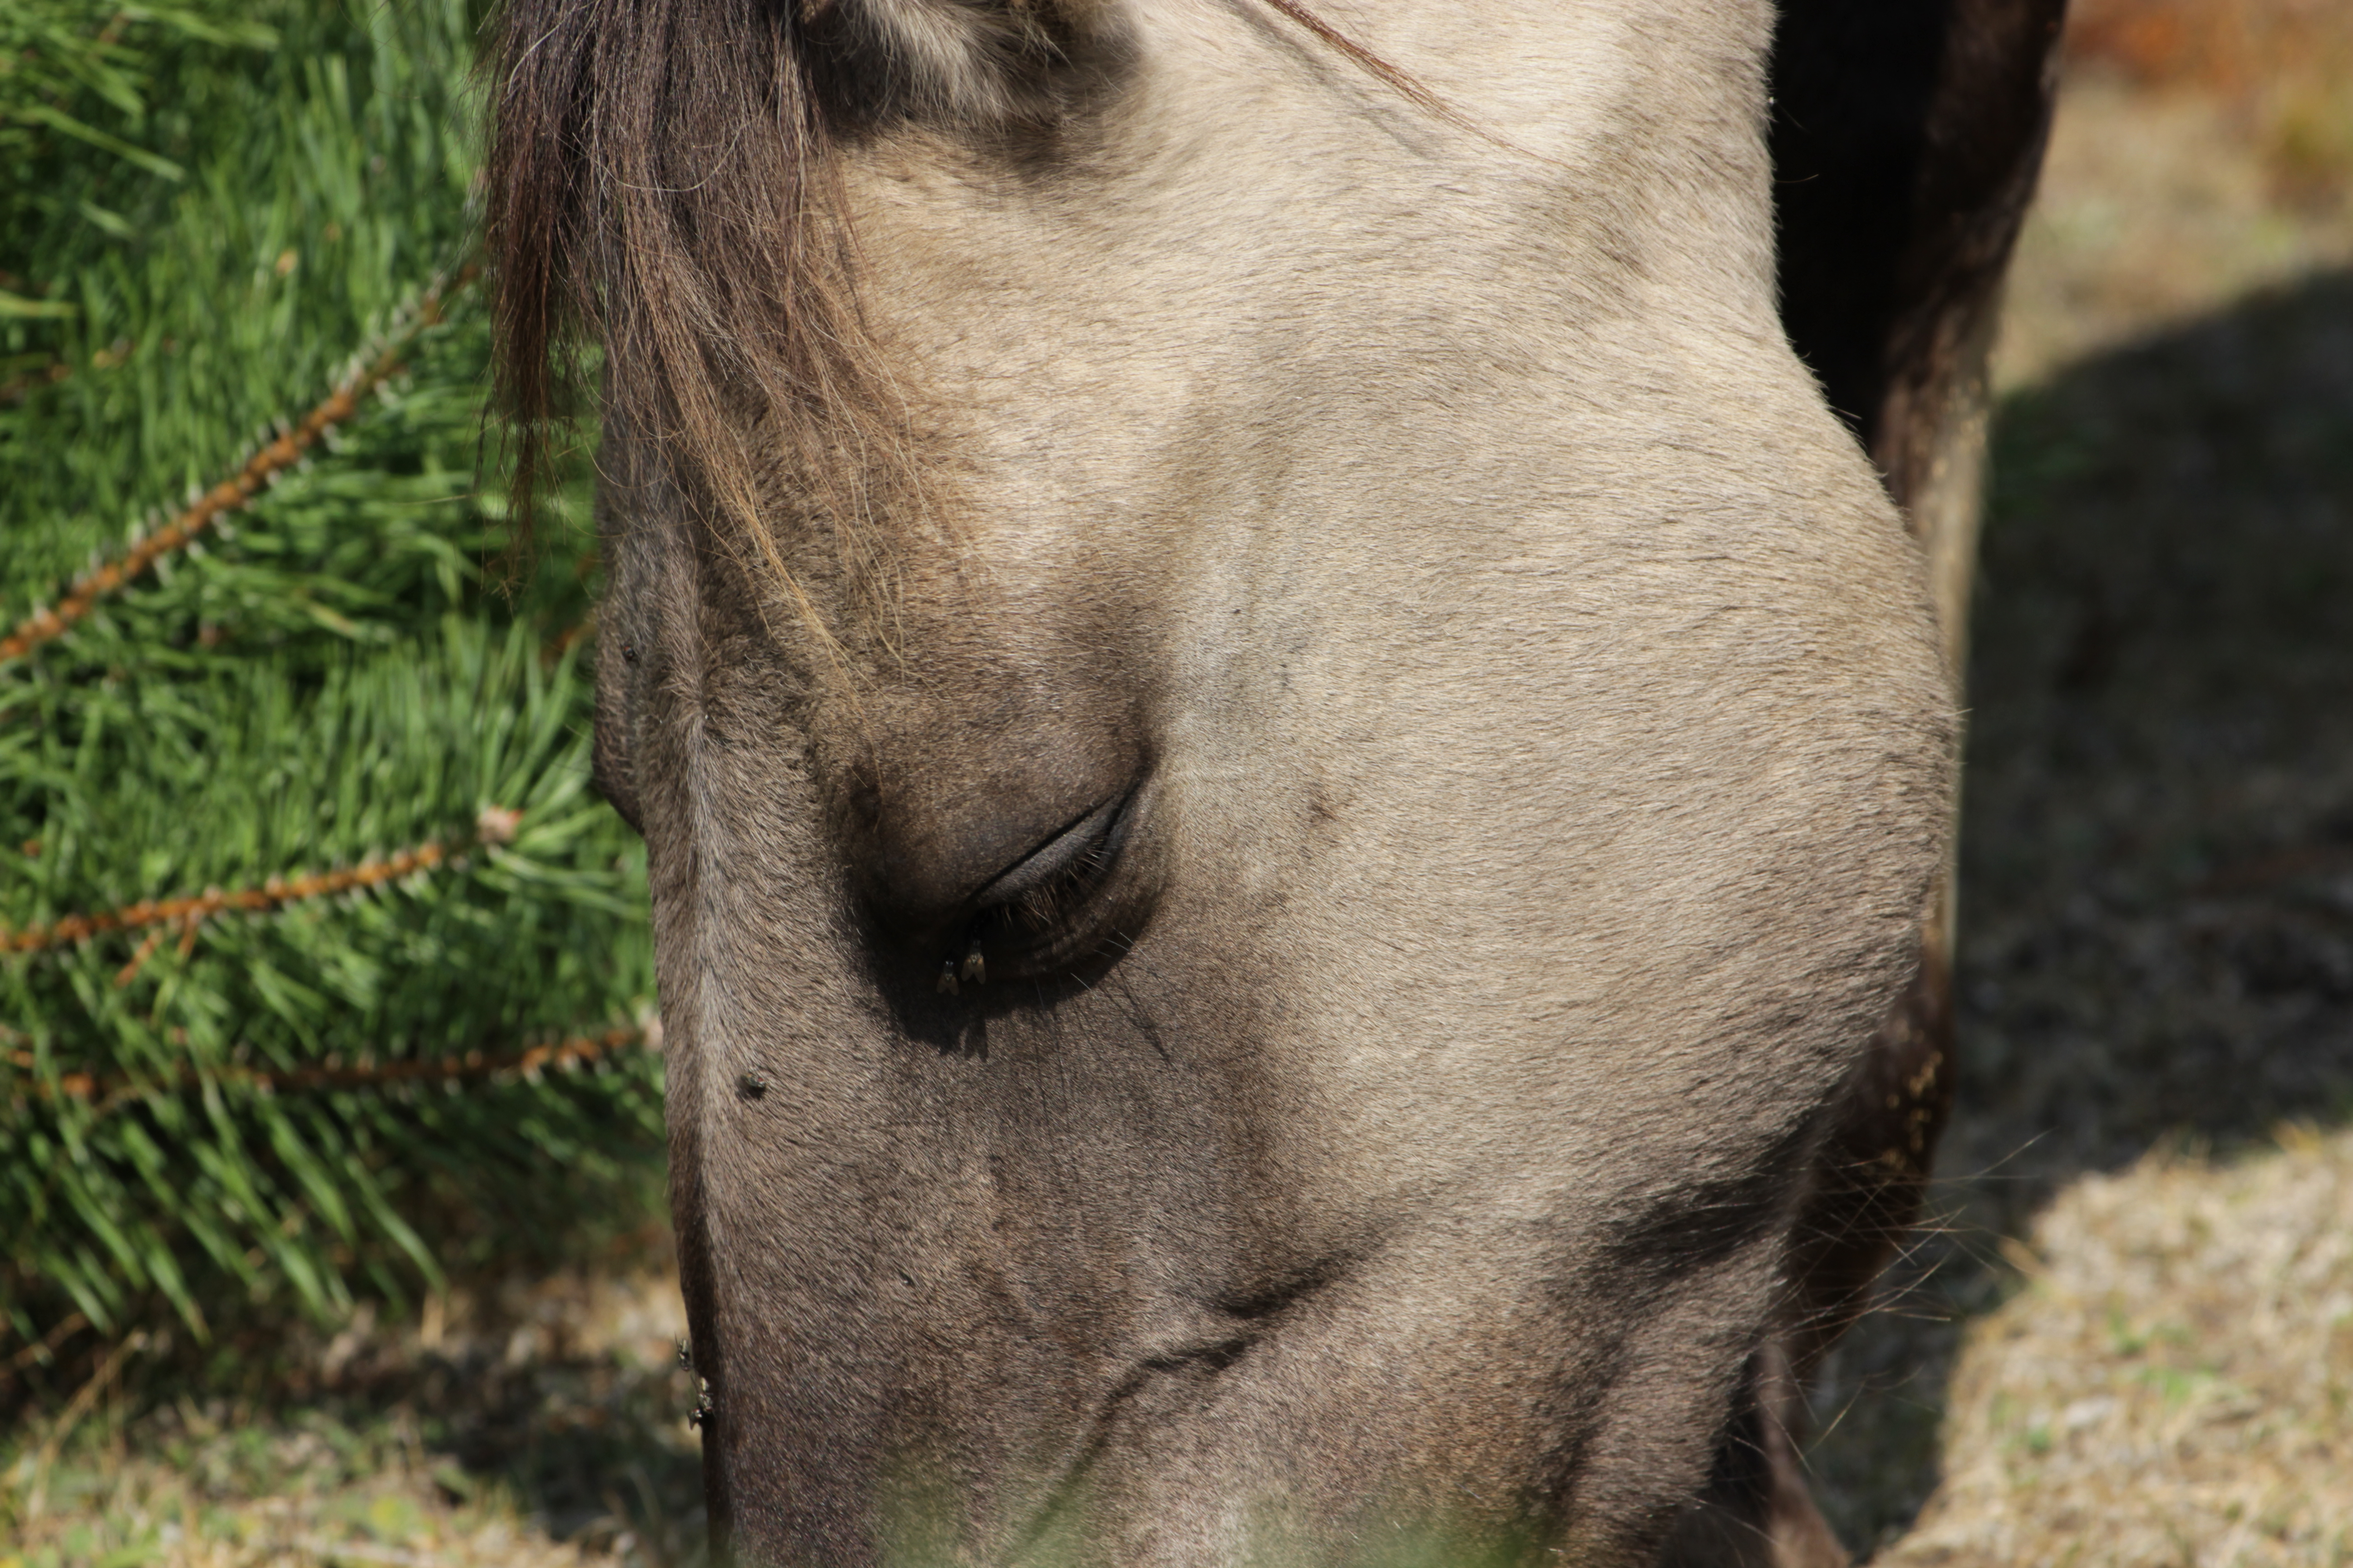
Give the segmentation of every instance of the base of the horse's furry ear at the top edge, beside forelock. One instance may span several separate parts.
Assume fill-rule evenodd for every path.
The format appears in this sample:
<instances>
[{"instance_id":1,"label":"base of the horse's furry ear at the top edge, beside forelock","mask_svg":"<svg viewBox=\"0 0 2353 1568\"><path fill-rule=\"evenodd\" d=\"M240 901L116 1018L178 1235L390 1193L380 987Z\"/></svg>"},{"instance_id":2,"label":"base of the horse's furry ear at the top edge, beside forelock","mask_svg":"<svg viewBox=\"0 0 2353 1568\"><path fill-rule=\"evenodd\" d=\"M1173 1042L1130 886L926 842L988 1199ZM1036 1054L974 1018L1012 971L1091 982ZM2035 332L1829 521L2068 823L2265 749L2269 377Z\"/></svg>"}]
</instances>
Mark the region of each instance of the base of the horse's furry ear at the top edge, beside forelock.
<instances>
[{"instance_id":1,"label":"base of the horse's furry ear at the top edge, beside forelock","mask_svg":"<svg viewBox=\"0 0 2353 1568\"><path fill-rule=\"evenodd\" d=\"M868 110L991 125L1052 115L1115 54L1118 0L826 0L805 12Z\"/></svg>"}]
</instances>

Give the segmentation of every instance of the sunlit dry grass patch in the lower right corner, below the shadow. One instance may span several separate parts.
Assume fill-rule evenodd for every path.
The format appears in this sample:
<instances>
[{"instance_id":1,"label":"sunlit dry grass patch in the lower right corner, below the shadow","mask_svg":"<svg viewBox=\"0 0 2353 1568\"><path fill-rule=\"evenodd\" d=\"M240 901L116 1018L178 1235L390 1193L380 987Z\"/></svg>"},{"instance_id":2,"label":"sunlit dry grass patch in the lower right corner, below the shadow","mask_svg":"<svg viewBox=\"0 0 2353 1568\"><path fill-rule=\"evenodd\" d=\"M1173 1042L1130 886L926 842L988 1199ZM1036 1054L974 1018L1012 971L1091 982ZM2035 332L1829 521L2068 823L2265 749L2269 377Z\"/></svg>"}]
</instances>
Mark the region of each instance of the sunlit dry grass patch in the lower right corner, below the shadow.
<instances>
[{"instance_id":1,"label":"sunlit dry grass patch in the lower right corner, below the shadow","mask_svg":"<svg viewBox=\"0 0 2353 1568\"><path fill-rule=\"evenodd\" d=\"M2064 1192L1953 1380L1906 1568L2353 1563L2353 1133Z\"/></svg>"}]
</instances>

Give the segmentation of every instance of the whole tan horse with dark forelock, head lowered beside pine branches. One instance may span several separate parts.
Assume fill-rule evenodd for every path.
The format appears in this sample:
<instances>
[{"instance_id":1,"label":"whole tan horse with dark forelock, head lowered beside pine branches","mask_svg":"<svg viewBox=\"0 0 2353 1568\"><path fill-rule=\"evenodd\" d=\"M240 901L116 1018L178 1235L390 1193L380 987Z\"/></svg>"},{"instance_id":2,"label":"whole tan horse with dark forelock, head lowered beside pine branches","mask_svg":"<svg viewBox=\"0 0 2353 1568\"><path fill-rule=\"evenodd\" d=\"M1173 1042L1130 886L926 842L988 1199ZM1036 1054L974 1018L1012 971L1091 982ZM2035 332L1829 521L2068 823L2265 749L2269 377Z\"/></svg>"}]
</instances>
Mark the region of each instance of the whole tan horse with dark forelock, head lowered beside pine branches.
<instances>
[{"instance_id":1,"label":"whole tan horse with dark forelock, head lowered beside pine branches","mask_svg":"<svg viewBox=\"0 0 2353 1568\"><path fill-rule=\"evenodd\" d=\"M511 0L744 1563L1833 1563L2061 0Z\"/></svg>"}]
</instances>

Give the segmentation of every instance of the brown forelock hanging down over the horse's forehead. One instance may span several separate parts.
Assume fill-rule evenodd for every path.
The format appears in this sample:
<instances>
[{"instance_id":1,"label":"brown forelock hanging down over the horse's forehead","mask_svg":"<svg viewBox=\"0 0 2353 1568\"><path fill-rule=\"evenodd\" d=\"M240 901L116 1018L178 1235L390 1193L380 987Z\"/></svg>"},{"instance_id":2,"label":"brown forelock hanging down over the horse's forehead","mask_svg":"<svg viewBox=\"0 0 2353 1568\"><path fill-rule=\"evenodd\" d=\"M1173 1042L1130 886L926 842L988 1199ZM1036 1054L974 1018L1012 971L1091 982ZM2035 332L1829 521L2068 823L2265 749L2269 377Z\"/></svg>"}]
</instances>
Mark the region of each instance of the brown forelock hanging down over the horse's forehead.
<instances>
[{"instance_id":1,"label":"brown forelock hanging down over the horse's forehead","mask_svg":"<svg viewBox=\"0 0 2353 1568\"><path fill-rule=\"evenodd\" d=\"M525 517L586 331L666 477L744 524L741 414L809 473L871 418L802 26L791 0L511 0L499 19L494 381Z\"/></svg>"}]
</instances>

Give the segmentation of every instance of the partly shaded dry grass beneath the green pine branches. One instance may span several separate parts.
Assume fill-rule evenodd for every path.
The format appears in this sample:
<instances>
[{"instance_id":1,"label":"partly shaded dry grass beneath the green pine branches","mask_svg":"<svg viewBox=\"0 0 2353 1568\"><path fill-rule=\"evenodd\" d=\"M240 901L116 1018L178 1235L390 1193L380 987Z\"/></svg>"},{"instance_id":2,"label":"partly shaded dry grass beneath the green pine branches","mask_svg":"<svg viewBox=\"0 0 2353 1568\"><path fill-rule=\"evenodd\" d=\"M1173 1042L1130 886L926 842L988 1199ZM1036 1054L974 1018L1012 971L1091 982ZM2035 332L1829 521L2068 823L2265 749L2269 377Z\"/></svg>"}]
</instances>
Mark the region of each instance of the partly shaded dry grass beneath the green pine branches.
<instances>
[{"instance_id":1,"label":"partly shaded dry grass beneath the green pine branches","mask_svg":"<svg viewBox=\"0 0 2353 1568\"><path fill-rule=\"evenodd\" d=\"M680 1335L675 1276L638 1267L362 1309L280 1347L287 1399L118 1410L118 1356L0 1443L0 1568L701 1563Z\"/></svg>"}]
</instances>

